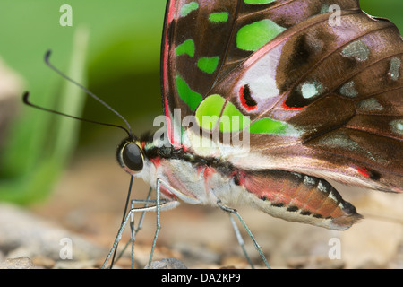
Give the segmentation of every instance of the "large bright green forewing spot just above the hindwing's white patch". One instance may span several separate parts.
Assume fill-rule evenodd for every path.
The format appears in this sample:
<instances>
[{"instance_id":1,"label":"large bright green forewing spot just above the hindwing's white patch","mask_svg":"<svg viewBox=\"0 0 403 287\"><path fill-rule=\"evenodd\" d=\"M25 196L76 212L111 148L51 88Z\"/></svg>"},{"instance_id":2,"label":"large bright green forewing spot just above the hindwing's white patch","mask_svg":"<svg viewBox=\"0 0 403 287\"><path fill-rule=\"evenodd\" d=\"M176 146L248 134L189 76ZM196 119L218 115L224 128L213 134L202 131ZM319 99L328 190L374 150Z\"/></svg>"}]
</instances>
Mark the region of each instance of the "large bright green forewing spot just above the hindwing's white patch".
<instances>
[{"instance_id":1,"label":"large bright green forewing spot just above the hindwing's white patch","mask_svg":"<svg viewBox=\"0 0 403 287\"><path fill-rule=\"evenodd\" d=\"M286 29L269 19L244 25L236 34L236 47L246 51L257 51L284 30Z\"/></svg>"}]
</instances>

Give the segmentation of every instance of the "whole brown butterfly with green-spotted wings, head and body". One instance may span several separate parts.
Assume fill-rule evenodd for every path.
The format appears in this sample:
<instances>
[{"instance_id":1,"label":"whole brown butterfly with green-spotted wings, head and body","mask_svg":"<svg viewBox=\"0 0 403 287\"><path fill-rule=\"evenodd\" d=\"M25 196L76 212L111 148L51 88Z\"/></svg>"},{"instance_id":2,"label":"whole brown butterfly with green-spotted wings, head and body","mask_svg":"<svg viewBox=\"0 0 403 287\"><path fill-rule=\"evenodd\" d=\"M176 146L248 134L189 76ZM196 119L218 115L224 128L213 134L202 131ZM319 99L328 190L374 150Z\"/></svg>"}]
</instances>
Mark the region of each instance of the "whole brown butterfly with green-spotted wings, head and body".
<instances>
[{"instance_id":1,"label":"whole brown butterfly with green-spotted wings, head and body","mask_svg":"<svg viewBox=\"0 0 403 287\"><path fill-rule=\"evenodd\" d=\"M403 190L402 59L396 26L356 0L168 1L165 141L118 158L172 201L345 230L361 215L328 180Z\"/></svg>"}]
</instances>

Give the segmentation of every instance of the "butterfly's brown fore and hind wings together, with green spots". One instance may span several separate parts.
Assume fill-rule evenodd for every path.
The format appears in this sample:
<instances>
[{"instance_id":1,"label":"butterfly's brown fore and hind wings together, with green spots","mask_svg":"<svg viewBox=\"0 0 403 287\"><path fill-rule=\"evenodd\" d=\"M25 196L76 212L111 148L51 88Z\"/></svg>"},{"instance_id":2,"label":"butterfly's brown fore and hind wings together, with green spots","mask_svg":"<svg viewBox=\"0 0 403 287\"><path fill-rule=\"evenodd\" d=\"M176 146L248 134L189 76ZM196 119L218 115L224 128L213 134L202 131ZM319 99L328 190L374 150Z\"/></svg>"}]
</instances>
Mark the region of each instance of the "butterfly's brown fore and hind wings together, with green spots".
<instances>
[{"instance_id":1,"label":"butterfly's brown fore and hind wings together, with green spots","mask_svg":"<svg viewBox=\"0 0 403 287\"><path fill-rule=\"evenodd\" d=\"M402 191L399 30L356 1L267 2L168 3L162 71L171 143L244 170ZM339 22L330 21L331 4L341 8ZM219 119L211 125L204 115ZM210 134L248 127L250 150L197 149L184 140L192 137L181 126L186 116ZM224 116L248 118L226 128Z\"/></svg>"}]
</instances>

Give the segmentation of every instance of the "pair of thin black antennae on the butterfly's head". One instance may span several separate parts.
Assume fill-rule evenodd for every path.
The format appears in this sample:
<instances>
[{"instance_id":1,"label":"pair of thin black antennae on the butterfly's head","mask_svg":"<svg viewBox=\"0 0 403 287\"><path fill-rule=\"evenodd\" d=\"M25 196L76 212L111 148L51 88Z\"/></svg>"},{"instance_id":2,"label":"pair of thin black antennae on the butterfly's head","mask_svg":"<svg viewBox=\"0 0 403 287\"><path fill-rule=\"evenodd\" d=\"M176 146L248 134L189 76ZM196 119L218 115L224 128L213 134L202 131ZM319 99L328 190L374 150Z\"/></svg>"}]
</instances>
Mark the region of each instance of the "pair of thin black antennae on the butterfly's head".
<instances>
[{"instance_id":1,"label":"pair of thin black antennae on the butterfly's head","mask_svg":"<svg viewBox=\"0 0 403 287\"><path fill-rule=\"evenodd\" d=\"M98 122L98 121L94 121L94 120L90 120L90 119L85 119L85 118L82 118L82 117L74 117L74 116L67 115L67 114L64 114L64 113L62 113L62 112L53 110L53 109L46 109L46 108L43 108L43 107L39 107L39 106L37 106L37 105L31 103L30 100L28 100L28 98L29 98L29 96L30 96L30 92L29 92L29 91L26 91L26 92L23 94L23 96L22 96L22 101L23 101L26 105L28 105L28 106L30 106L30 107L33 107L33 108L36 108L36 109L42 109L42 110L45 110L45 111L47 111L47 112L50 112L50 113L53 113L53 114L56 114L56 115L61 115L61 116L64 116L64 117L71 117L71 118L78 119L78 120L81 120L81 121L84 121L84 122L88 122L88 123L92 123L92 124L97 124L97 125L102 125L102 126L115 126L115 127L118 127L118 128L120 128L120 129L123 129L124 132L125 132L127 135L129 135L130 138L133 139L132 128L130 127L130 125L129 125L129 123L127 122L127 120L126 120L121 114L119 114L115 109L113 109L112 107L110 107L105 101L99 99L99 97L97 97L97 96L96 96L94 93L92 93L90 90L88 90L87 88L85 88L84 86L82 86L80 83L75 82L72 78L68 77L66 74L64 74L63 72L61 72L60 70L58 70L58 69L56 68L56 66L52 65L52 64L49 62L49 57L50 57L50 54L51 54L51 53L52 53L51 50L47 50L47 52L46 52L46 54L45 54L45 63L47 64L47 66L49 66L49 67L50 67L52 70L54 70L57 74L60 74L60 75L61 75L62 77L64 77L64 79L66 79L67 81L69 81L69 82L75 84L76 86L78 86L82 91L85 91L85 92L86 92L88 95L90 95L90 97L92 97L94 100L97 100L97 101L98 101L100 104L102 104L104 107L106 107L107 109L109 109L110 111L112 111L114 114L116 114L117 117L120 117L120 118L124 121L124 124L127 126L127 128L125 128L124 126L118 126L118 125L113 125L113 124L102 123L102 122Z\"/></svg>"}]
</instances>

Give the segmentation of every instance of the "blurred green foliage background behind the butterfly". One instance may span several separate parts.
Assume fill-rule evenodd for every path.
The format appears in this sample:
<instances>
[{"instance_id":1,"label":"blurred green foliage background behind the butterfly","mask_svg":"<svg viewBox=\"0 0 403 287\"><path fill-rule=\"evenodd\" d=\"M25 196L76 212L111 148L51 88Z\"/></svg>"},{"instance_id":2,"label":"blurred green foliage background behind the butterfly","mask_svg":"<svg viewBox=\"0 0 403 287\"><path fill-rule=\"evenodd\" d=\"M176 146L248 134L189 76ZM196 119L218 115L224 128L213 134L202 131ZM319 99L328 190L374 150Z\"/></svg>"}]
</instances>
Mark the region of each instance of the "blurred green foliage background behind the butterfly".
<instances>
[{"instance_id":1,"label":"blurred green foliage background behind the butterfly","mask_svg":"<svg viewBox=\"0 0 403 287\"><path fill-rule=\"evenodd\" d=\"M72 27L59 23L63 4L0 1L0 58L20 77L21 93L30 91L30 100L40 106L123 124L44 64L50 48L51 62L118 110L136 134L150 129L152 119L162 112L159 49L166 1L68 1L73 7ZM361 6L403 30L402 0L362 0ZM104 142L117 144L124 137L110 127L30 109L20 100L17 108L0 138L3 201L30 204L46 197L76 146L90 150Z\"/></svg>"}]
</instances>

